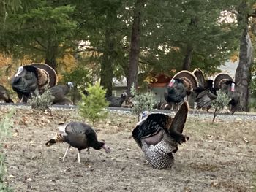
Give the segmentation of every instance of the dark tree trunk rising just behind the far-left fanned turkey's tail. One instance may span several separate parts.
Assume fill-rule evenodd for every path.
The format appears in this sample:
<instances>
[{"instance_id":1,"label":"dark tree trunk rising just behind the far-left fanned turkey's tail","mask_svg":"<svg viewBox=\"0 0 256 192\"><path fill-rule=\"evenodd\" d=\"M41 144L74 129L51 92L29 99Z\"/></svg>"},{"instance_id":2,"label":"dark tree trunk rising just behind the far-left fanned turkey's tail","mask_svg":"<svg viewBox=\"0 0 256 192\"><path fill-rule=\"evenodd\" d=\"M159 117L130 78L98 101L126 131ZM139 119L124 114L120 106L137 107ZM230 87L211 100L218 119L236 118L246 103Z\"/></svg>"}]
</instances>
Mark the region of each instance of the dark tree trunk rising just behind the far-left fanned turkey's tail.
<instances>
[{"instance_id":1,"label":"dark tree trunk rising just behind the far-left fanned turkey's tail","mask_svg":"<svg viewBox=\"0 0 256 192\"><path fill-rule=\"evenodd\" d=\"M48 64L54 70L57 69L57 54L58 54L58 43L49 41L46 54L45 54L45 64Z\"/></svg>"}]
</instances>

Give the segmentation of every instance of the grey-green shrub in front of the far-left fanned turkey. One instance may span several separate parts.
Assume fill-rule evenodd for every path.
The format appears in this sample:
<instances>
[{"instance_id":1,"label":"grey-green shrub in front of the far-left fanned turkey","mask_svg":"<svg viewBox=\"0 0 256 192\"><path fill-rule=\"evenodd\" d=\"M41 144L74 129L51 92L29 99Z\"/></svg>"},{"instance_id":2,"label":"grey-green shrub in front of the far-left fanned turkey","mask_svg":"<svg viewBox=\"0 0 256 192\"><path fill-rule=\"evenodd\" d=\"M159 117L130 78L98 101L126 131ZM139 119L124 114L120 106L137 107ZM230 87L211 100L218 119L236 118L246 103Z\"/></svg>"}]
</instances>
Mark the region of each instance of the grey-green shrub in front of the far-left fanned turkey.
<instances>
[{"instance_id":1,"label":"grey-green shrub in front of the far-left fanned turkey","mask_svg":"<svg viewBox=\"0 0 256 192\"><path fill-rule=\"evenodd\" d=\"M50 92L49 89L46 89L45 92L42 93L42 95L31 96L31 99L29 99L29 104L31 104L32 109L41 111L48 110L50 112L49 107L53 104L53 99L53 94Z\"/></svg>"}]
</instances>

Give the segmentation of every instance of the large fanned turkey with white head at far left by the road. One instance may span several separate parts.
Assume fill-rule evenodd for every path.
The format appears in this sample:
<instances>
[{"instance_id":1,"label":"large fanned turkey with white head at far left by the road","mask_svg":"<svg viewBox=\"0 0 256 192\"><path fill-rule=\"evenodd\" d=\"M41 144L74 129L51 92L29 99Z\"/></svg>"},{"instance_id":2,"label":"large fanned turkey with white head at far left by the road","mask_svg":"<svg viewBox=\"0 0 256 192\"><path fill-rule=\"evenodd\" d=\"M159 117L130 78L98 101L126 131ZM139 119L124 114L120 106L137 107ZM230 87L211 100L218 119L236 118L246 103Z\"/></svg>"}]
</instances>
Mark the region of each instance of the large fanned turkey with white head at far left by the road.
<instances>
[{"instance_id":1,"label":"large fanned turkey with white head at far left by the road","mask_svg":"<svg viewBox=\"0 0 256 192\"><path fill-rule=\"evenodd\" d=\"M27 102L31 94L38 96L46 87L56 85L57 75L46 64L20 66L12 80L12 89L17 92L20 101Z\"/></svg>"}]
</instances>

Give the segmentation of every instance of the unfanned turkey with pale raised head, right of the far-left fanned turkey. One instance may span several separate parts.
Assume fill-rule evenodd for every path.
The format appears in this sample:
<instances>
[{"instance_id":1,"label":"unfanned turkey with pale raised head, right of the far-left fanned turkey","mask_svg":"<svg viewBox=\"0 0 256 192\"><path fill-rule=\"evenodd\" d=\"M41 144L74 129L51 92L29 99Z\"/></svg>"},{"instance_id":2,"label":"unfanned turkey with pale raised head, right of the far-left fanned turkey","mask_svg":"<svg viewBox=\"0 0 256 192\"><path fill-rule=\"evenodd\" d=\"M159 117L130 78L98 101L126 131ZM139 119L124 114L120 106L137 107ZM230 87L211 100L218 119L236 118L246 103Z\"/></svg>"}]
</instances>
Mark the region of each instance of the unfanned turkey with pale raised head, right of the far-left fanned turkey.
<instances>
[{"instance_id":1,"label":"unfanned turkey with pale raised head, right of the far-left fanned turkey","mask_svg":"<svg viewBox=\"0 0 256 192\"><path fill-rule=\"evenodd\" d=\"M72 82L67 82L66 85L56 85L50 88L50 92L54 96L53 104L67 104L72 102L69 99L65 98L65 96L73 87L74 85L72 84Z\"/></svg>"}]
</instances>

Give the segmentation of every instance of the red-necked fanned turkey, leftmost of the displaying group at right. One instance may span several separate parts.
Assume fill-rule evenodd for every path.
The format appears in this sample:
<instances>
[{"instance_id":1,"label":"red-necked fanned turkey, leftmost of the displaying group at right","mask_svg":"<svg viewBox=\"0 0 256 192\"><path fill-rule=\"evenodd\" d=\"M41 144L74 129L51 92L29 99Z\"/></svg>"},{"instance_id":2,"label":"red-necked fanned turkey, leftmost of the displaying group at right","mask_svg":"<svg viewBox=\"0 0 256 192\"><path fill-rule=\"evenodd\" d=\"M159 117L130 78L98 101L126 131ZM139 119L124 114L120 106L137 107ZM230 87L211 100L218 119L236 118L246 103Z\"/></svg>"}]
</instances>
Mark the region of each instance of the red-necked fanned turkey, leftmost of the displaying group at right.
<instances>
[{"instance_id":1,"label":"red-necked fanned turkey, leftmost of the displaying group at right","mask_svg":"<svg viewBox=\"0 0 256 192\"><path fill-rule=\"evenodd\" d=\"M185 70L178 72L167 85L167 90L164 93L165 101L170 105L182 103L184 97L189 96L197 86L198 82L194 74Z\"/></svg>"}]
</instances>

